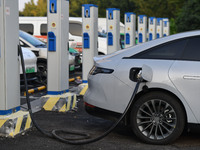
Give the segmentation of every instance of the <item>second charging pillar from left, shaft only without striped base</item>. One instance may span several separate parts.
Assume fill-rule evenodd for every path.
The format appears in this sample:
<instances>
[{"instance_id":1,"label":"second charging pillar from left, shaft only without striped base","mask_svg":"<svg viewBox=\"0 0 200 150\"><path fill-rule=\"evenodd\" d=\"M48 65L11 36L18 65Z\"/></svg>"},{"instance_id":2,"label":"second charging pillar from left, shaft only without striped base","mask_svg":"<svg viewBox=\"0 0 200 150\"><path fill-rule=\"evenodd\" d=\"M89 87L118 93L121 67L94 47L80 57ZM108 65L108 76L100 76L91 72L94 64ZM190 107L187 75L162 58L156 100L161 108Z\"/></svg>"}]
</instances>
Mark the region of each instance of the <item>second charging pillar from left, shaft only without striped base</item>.
<instances>
[{"instance_id":1,"label":"second charging pillar from left, shaft only without striped base","mask_svg":"<svg viewBox=\"0 0 200 150\"><path fill-rule=\"evenodd\" d=\"M48 0L47 94L60 95L69 89L69 1Z\"/></svg>"}]
</instances>

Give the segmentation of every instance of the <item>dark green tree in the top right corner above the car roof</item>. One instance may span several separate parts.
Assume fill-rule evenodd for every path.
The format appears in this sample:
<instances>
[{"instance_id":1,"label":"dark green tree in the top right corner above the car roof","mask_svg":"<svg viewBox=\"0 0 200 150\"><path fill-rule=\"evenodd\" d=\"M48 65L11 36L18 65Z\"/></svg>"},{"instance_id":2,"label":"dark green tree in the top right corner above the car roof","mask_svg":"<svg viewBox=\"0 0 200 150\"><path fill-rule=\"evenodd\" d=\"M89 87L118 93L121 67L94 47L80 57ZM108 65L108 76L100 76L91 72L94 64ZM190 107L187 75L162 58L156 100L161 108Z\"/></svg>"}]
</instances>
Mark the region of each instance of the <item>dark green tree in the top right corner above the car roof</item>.
<instances>
[{"instance_id":1,"label":"dark green tree in the top right corner above the car roof","mask_svg":"<svg viewBox=\"0 0 200 150\"><path fill-rule=\"evenodd\" d=\"M190 0L182 8L176 19L177 31L200 29L200 1Z\"/></svg>"}]
</instances>

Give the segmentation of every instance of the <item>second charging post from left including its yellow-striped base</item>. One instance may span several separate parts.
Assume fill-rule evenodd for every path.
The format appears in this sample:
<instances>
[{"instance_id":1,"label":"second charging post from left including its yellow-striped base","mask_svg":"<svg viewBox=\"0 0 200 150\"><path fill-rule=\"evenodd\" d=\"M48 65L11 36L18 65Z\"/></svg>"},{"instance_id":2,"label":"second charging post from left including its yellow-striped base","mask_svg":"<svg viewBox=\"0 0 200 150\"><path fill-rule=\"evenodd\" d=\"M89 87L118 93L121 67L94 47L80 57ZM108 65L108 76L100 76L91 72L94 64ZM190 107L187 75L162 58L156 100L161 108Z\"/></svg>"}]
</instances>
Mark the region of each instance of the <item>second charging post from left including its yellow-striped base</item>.
<instances>
[{"instance_id":1,"label":"second charging post from left including its yellow-striped base","mask_svg":"<svg viewBox=\"0 0 200 150\"><path fill-rule=\"evenodd\" d=\"M69 1L48 0L47 15L47 95L42 97L42 106L66 112L76 104L76 95L69 93Z\"/></svg>"}]
</instances>

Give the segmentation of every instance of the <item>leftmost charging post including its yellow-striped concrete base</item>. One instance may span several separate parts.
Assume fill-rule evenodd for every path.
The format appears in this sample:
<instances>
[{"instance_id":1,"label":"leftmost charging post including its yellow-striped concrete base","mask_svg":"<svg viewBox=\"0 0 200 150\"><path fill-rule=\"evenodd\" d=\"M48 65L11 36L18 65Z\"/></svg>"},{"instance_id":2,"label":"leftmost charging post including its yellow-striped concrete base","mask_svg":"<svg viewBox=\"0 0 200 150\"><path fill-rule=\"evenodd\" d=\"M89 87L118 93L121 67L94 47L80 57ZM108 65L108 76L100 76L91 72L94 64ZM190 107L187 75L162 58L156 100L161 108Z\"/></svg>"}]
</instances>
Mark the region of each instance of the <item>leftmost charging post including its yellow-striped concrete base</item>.
<instances>
[{"instance_id":1,"label":"leftmost charging post including its yellow-striped concrete base","mask_svg":"<svg viewBox=\"0 0 200 150\"><path fill-rule=\"evenodd\" d=\"M0 135L14 137L31 126L20 110L18 1L0 0Z\"/></svg>"}]
</instances>

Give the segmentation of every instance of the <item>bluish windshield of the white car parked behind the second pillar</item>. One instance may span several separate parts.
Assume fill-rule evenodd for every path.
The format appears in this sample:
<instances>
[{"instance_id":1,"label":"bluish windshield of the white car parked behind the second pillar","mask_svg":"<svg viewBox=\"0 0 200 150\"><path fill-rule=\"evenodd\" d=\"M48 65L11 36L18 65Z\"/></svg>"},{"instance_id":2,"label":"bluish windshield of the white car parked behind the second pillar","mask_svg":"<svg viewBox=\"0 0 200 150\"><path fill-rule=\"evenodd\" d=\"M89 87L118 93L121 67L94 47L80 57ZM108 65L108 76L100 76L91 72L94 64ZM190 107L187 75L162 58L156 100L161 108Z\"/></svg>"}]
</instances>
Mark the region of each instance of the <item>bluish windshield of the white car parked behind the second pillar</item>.
<instances>
[{"instance_id":1,"label":"bluish windshield of the white car parked behind the second pillar","mask_svg":"<svg viewBox=\"0 0 200 150\"><path fill-rule=\"evenodd\" d=\"M46 48L45 43L43 43L42 41L38 40L37 38L33 37L32 35L26 32L19 31L19 36L37 48L43 48L43 47Z\"/></svg>"}]
</instances>

